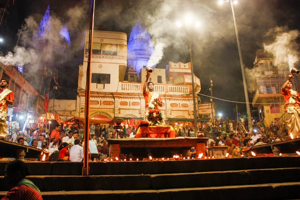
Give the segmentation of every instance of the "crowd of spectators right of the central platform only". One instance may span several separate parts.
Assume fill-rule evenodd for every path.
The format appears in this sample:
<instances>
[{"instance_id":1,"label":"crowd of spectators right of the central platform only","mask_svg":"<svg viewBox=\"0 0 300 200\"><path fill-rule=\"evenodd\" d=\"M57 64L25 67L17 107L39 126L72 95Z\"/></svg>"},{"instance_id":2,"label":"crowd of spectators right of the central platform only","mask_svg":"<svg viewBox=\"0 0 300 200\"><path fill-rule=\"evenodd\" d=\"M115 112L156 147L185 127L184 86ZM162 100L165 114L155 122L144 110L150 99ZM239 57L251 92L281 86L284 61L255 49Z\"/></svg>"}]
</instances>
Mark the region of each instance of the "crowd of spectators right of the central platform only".
<instances>
[{"instance_id":1,"label":"crowd of spectators right of the central platform only","mask_svg":"<svg viewBox=\"0 0 300 200\"><path fill-rule=\"evenodd\" d=\"M244 118L237 122L228 117L216 120L213 124L198 122L198 132L209 138L206 154L208 155L208 147L227 146L229 157L248 156L247 151L251 146L291 139L284 122L271 122L269 127L265 127L263 121L253 119L251 132L248 131L248 124L245 122L247 120ZM170 125L174 127L176 136L195 137L198 134L194 132L192 122L171 122Z\"/></svg>"}]
</instances>

